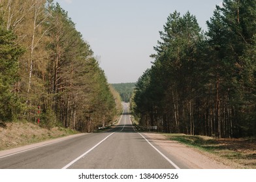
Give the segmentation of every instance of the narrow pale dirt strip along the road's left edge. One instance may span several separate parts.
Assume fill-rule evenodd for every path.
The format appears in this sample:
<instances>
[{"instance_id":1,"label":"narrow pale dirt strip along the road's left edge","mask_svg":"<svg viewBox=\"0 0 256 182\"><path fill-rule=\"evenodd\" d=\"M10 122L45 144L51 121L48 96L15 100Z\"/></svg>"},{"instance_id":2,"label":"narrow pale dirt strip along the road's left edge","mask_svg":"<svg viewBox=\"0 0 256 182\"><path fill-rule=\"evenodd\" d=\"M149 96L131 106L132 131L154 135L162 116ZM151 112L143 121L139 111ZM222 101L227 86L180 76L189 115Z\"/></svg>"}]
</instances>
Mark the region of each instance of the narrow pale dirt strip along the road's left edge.
<instances>
[{"instance_id":1,"label":"narrow pale dirt strip along the road's left edge","mask_svg":"<svg viewBox=\"0 0 256 182\"><path fill-rule=\"evenodd\" d=\"M35 149L35 148L40 148L42 146L54 144L54 143L57 143L57 142L67 140L69 138L74 138L74 137L78 137L78 136L82 136L82 135L89 135L89 133L80 133L80 134L75 134L75 135L63 136L61 138L46 140L44 142L38 142L38 143L35 143L35 144L21 146L21 147L18 147L18 148L3 150L3 151L0 151L0 158L4 157L4 156L6 157L7 155L14 155L16 153L21 153L21 152L28 151L28 150Z\"/></svg>"}]
</instances>

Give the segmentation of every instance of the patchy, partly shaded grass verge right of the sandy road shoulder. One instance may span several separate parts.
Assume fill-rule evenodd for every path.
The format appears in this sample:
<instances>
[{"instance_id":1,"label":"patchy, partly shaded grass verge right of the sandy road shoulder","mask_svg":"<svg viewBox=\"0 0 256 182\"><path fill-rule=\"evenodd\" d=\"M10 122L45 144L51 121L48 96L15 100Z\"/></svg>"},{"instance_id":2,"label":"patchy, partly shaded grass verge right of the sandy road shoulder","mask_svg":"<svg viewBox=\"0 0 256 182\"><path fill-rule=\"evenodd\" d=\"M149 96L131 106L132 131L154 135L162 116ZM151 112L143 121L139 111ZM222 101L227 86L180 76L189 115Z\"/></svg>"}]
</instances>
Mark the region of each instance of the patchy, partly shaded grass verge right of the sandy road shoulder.
<instances>
[{"instance_id":1,"label":"patchy, partly shaded grass verge right of the sandy road shoulder","mask_svg":"<svg viewBox=\"0 0 256 182\"><path fill-rule=\"evenodd\" d=\"M212 138L184 134L163 134L170 140L214 153L242 168L256 168L256 138Z\"/></svg>"}]
</instances>

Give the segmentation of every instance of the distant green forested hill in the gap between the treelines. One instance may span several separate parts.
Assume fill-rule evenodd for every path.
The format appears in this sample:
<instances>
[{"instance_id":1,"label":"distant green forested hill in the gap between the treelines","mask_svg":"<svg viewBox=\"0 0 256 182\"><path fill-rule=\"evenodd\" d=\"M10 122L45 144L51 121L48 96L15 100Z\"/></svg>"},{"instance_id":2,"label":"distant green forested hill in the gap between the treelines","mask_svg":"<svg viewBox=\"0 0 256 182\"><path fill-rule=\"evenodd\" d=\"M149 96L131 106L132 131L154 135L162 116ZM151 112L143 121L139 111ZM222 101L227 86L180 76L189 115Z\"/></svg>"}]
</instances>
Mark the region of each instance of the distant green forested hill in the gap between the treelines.
<instances>
[{"instance_id":1,"label":"distant green forested hill in the gap between the treelines","mask_svg":"<svg viewBox=\"0 0 256 182\"><path fill-rule=\"evenodd\" d=\"M122 101L129 102L133 95L135 84L136 83L114 83L111 85L119 92Z\"/></svg>"}]
</instances>

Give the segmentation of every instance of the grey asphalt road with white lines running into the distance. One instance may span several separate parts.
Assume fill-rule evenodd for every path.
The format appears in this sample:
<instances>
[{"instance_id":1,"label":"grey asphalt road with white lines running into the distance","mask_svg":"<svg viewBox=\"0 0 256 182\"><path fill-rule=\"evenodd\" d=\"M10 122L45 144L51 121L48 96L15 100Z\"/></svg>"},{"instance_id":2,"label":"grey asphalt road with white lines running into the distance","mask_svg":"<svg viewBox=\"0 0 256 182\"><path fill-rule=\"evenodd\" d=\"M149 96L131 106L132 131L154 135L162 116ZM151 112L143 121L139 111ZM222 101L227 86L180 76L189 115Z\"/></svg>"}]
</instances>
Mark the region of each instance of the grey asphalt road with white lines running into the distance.
<instances>
[{"instance_id":1,"label":"grey asphalt road with white lines running into the distance","mask_svg":"<svg viewBox=\"0 0 256 182\"><path fill-rule=\"evenodd\" d=\"M187 168L133 127L124 105L118 125L0 157L0 168L12 169L166 169Z\"/></svg>"}]
</instances>

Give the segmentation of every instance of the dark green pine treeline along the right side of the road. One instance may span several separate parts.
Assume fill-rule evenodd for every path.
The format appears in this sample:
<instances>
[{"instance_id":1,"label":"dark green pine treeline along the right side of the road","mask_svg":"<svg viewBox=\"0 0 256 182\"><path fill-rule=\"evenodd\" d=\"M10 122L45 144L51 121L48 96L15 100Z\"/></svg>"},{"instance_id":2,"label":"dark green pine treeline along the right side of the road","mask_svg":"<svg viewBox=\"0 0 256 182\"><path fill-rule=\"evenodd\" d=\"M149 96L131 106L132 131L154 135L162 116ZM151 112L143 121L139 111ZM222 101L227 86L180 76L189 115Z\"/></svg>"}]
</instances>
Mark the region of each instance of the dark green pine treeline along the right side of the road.
<instances>
[{"instance_id":1,"label":"dark green pine treeline along the right side of the road","mask_svg":"<svg viewBox=\"0 0 256 182\"><path fill-rule=\"evenodd\" d=\"M132 107L141 125L216 137L256 133L256 1L224 0L202 32L195 16L170 14Z\"/></svg>"}]
</instances>

